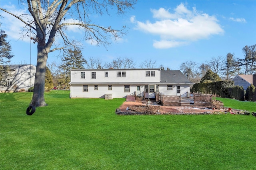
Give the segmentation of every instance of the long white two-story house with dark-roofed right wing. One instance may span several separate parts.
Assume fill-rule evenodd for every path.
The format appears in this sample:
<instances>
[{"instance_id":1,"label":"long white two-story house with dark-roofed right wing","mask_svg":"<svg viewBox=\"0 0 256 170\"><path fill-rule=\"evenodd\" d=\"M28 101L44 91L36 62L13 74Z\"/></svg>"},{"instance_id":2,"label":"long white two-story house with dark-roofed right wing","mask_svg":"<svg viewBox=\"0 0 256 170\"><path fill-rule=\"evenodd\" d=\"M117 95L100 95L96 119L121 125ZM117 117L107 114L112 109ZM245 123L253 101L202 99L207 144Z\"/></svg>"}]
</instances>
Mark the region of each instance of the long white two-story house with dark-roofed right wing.
<instances>
[{"instance_id":1,"label":"long white two-story house with dark-roofed right wing","mask_svg":"<svg viewBox=\"0 0 256 170\"><path fill-rule=\"evenodd\" d=\"M71 70L70 98L155 98L155 92L180 96L190 92L192 84L180 70L79 69Z\"/></svg>"}]
</instances>

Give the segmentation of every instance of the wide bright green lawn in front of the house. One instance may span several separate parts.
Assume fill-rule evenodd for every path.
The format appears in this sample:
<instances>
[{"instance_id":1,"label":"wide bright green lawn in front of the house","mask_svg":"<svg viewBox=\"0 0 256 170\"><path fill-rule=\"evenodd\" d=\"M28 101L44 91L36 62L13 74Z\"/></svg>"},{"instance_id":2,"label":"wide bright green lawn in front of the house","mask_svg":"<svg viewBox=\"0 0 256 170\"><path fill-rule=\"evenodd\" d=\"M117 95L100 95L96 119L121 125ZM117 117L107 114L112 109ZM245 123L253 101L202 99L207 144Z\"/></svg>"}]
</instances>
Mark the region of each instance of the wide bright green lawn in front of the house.
<instances>
[{"instance_id":1,"label":"wide bright green lawn in front of the house","mask_svg":"<svg viewBox=\"0 0 256 170\"><path fill-rule=\"evenodd\" d=\"M256 167L252 115L116 115L124 99L70 99L58 90L45 99L28 116L30 93L0 94L1 170Z\"/></svg>"}]
</instances>

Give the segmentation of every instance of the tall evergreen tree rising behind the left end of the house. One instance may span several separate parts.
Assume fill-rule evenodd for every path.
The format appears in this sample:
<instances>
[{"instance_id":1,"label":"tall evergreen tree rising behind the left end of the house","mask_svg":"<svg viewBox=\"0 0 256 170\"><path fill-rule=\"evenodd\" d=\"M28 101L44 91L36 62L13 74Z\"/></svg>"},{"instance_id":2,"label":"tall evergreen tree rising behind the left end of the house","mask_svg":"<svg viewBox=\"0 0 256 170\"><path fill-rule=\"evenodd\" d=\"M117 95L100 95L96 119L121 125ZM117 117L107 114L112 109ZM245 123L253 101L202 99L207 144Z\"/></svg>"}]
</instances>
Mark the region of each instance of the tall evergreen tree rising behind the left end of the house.
<instances>
[{"instance_id":1,"label":"tall evergreen tree rising behind the left end of the house","mask_svg":"<svg viewBox=\"0 0 256 170\"><path fill-rule=\"evenodd\" d=\"M82 52L79 49L68 49L68 53L61 59L62 64L60 64L60 79L58 79L58 83L62 88L69 87L70 82L70 70L71 69L82 69L84 68L84 64L86 64L86 60L82 56Z\"/></svg>"}]
</instances>

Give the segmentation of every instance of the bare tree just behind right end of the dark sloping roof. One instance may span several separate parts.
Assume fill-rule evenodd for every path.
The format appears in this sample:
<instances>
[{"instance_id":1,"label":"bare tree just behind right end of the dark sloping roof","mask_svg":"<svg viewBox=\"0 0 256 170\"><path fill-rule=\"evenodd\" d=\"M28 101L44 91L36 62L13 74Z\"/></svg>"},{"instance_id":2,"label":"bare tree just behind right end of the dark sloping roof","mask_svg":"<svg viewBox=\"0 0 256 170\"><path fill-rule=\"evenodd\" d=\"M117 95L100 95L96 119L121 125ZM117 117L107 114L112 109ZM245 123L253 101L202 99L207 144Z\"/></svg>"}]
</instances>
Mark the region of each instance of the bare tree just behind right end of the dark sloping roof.
<instances>
[{"instance_id":1,"label":"bare tree just behind right end of the dark sloping roof","mask_svg":"<svg viewBox=\"0 0 256 170\"><path fill-rule=\"evenodd\" d=\"M193 82L193 78L196 78L198 71L198 64L194 61L186 61L180 65L180 71Z\"/></svg>"}]
</instances>

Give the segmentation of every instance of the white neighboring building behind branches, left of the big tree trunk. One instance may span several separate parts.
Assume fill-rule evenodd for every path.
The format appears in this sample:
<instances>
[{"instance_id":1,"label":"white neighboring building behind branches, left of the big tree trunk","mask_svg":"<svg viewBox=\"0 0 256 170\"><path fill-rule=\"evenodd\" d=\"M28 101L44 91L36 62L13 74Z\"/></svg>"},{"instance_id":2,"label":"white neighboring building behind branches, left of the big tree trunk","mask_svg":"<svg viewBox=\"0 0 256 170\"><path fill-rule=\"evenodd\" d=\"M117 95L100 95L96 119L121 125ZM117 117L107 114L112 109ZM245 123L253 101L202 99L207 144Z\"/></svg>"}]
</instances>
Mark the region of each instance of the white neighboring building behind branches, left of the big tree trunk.
<instances>
[{"instance_id":1,"label":"white neighboring building behind branches, left of the big tree trunk","mask_svg":"<svg viewBox=\"0 0 256 170\"><path fill-rule=\"evenodd\" d=\"M36 66L33 64L15 64L8 66L10 76L2 81L5 86L0 87L0 92L18 92L21 89L25 91L34 86Z\"/></svg>"}]
</instances>

